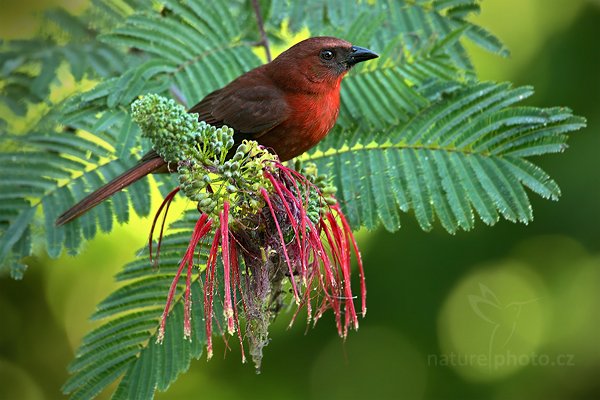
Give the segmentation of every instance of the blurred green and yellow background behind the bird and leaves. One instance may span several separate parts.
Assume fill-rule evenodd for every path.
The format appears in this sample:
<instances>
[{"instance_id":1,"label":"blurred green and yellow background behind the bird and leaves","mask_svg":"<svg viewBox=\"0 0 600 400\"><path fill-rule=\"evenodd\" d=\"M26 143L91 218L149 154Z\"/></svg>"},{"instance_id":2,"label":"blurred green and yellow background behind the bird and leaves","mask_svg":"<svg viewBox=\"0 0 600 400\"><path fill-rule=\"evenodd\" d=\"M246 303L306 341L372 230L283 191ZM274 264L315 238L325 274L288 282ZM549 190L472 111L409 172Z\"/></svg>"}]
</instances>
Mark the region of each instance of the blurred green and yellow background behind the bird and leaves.
<instances>
[{"instance_id":1,"label":"blurred green and yellow background behind the bird and leaves","mask_svg":"<svg viewBox=\"0 0 600 400\"><path fill-rule=\"evenodd\" d=\"M35 32L36 12L84 0L2 3L0 37ZM422 232L411 215L397 234L359 235L367 318L346 342L324 318L305 332L281 315L263 370L235 345L195 361L159 399L599 399L600 1L486 0L477 22L511 49L470 48L482 79L533 85L538 106L565 105L589 127L540 164L558 203L532 196L529 226L479 223L451 236ZM0 278L0 399L62 398L66 365L112 276L143 246L135 219L77 258L31 260L23 281ZM220 342L220 341L218 341Z\"/></svg>"}]
</instances>

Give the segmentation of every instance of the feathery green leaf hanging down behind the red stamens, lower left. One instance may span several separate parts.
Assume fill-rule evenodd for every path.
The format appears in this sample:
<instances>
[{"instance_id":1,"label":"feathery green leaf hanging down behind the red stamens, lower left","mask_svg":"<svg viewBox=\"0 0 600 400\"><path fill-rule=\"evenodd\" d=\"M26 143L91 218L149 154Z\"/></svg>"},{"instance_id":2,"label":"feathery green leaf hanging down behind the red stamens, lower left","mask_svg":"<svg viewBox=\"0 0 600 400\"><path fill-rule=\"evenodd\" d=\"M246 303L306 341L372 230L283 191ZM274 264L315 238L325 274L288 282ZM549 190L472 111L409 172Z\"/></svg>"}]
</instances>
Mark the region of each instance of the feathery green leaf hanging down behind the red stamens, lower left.
<instances>
[{"instance_id":1,"label":"feathery green leaf hanging down behind the red stamens, lower left","mask_svg":"<svg viewBox=\"0 0 600 400\"><path fill-rule=\"evenodd\" d=\"M83 339L69 366L72 376L63 387L65 393L76 399L94 397L122 376L113 398L149 399L155 390L166 390L180 373L186 371L192 358L200 358L206 338L199 273L193 278L191 292L191 341L183 339L183 301L180 296L183 287L179 287L178 300L167 320L164 341L156 343L166 294L181 253L188 245L194 218L197 219L195 210L186 213L182 220L185 224L171 227L180 229L164 238L159 268L152 265L146 251L140 250L139 258L117 275L117 280L124 285L98 305L92 319L105 322ZM181 229L182 225L185 228ZM202 265L205 261L203 253L198 262Z\"/></svg>"}]
</instances>

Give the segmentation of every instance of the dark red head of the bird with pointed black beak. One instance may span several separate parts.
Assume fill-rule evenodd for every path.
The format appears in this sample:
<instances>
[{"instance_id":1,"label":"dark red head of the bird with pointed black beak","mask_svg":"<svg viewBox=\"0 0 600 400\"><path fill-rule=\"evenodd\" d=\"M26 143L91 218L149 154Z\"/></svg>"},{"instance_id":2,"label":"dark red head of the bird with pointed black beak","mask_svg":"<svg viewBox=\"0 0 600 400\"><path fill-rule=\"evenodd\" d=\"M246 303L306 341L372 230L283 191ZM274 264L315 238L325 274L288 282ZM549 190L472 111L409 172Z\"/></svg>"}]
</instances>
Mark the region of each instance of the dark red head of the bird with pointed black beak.
<instances>
[{"instance_id":1,"label":"dark red head of the bird with pointed black beak","mask_svg":"<svg viewBox=\"0 0 600 400\"><path fill-rule=\"evenodd\" d=\"M354 65L377 57L377 53L346 40L319 36L295 44L271 64L274 70L289 71L292 68L296 76L309 82L339 84Z\"/></svg>"}]
</instances>

